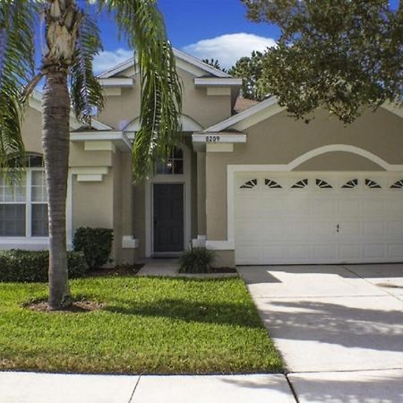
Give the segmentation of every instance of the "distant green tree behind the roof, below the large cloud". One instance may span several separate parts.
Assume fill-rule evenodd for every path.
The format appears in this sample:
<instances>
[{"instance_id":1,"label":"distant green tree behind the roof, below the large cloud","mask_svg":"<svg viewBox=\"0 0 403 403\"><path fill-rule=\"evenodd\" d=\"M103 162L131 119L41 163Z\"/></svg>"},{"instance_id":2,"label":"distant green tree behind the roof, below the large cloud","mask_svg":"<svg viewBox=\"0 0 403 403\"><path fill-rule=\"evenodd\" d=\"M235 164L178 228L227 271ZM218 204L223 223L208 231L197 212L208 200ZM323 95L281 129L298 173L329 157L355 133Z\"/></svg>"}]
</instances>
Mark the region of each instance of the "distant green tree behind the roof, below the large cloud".
<instances>
[{"instance_id":1,"label":"distant green tree behind the roof, below the large cloud","mask_svg":"<svg viewBox=\"0 0 403 403\"><path fill-rule=\"evenodd\" d=\"M264 55L262 52L252 52L252 56L241 57L228 71L234 77L242 78L241 95L245 99L262 100L267 95L262 86Z\"/></svg>"}]
</instances>

